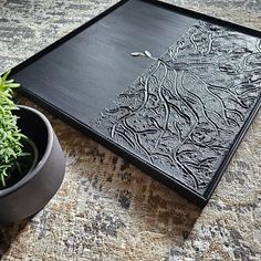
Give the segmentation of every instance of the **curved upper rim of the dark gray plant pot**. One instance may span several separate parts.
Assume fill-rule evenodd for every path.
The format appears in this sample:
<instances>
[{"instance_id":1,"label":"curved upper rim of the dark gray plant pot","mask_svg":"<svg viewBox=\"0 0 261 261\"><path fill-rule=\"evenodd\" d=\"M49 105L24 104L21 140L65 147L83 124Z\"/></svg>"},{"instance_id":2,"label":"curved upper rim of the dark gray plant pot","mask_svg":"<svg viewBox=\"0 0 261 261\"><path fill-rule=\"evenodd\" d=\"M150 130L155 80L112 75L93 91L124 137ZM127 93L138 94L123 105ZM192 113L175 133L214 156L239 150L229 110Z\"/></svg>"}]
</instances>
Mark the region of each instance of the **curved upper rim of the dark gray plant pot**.
<instances>
[{"instance_id":1,"label":"curved upper rim of the dark gray plant pot","mask_svg":"<svg viewBox=\"0 0 261 261\"><path fill-rule=\"evenodd\" d=\"M18 105L18 107L20 109L31 111L32 113L36 114L42 119L42 122L46 126L46 130L48 130L48 144L46 144L46 148L44 150L44 154L43 154L42 158L40 159L40 161L38 163L38 165L35 166L35 168L31 173L27 174L21 180L19 180L13 186L0 190L0 198L7 197L8 195L13 194L17 190L19 190L20 188L22 188L23 186L25 186L42 169L43 165L46 163L46 160L49 158L49 155L51 154L51 149L53 146L53 129L52 129L52 125L49 122L49 119L41 112L39 112L35 108L24 106L24 105Z\"/></svg>"}]
</instances>

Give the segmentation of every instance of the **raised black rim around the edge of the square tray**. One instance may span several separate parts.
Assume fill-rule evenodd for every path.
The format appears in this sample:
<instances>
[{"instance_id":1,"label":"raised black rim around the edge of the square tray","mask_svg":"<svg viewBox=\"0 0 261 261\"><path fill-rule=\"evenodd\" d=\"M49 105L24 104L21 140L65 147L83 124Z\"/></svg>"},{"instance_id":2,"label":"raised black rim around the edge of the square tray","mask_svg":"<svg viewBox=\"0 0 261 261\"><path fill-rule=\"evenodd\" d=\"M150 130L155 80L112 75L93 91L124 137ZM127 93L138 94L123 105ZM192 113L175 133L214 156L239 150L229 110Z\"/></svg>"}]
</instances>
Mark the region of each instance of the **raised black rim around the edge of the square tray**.
<instances>
[{"instance_id":1,"label":"raised black rim around the edge of the square tray","mask_svg":"<svg viewBox=\"0 0 261 261\"><path fill-rule=\"evenodd\" d=\"M35 53L34 55L32 55L28 60L21 62L17 66L14 66L11 70L10 76L14 75L15 73L23 70L28 65L32 64L33 62L35 62L40 58L44 56L45 54L52 52L58 46L62 45L63 43L65 43L66 41L72 39L73 36L77 35L80 32L84 31L85 29L87 29L92 24L96 23L97 21L100 21L101 19L103 19L104 17L106 17L107 14L109 14L111 12L113 12L114 10L121 8L123 4L125 4L126 2L129 2L129 1L147 2L147 3L154 4L158 8L164 8L164 9L174 11L176 13L182 14L182 15L191 17L191 18L195 18L195 19L203 20L203 21L208 21L208 22L211 22L211 23L215 23L215 24L218 24L218 25L222 25L222 27L233 29L236 31L242 32L242 33L248 34L248 35L261 38L261 32L258 31L258 30L247 28L247 27L243 27L243 25L230 22L230 21L225 21L225 20L221 20L221 19L218 19L218 18L213 18L211 15L202 14L202 13L199 13L199 12L196 12L196 11L192 11L192 10L188 10L188 9L185 9L185 8L181 8L181 7L177 7L177 6L174 6L174 4L170 4L170 3L166 3L166 2L161 2L161 1L157 1L157 0L122 0L122 1L117 2L116 4L112 6L111 8L108 8L107 10L105 10L104 12L102 12L98 15L94 17L90 21L87 21L84 24L80 25L79 28L74 29L69 34L64 35L63 38L61 38L58 41L53 42L52 44L44 48L40 52ZM240 143L242 142L250 124L252 123L254 116L257 115L257 113L258 113L258 111L261 106L261 97L259 97L259 100L257 101L257 103L255 103L253 109L251 111L249 117L244 122L240 133L236 137L236 140L234 140L233 145L229 148L227 156L222 160L222 164L220 165L219 169L216 171L211 182L209 184L208 189L206 190L205 195L201 196L201 195L197 194L195 190L190 189L187 185L185 185L185 184L180 182L179 180L168 176L163 170L160 170L160 169L156 168L155 166L144 161L142 158L138 158L135 154L133 154L129 150L125 149L119 144L115 143L114 140L107 139L104 135L102 135L101 133L98 133L97 130L92 128L91 126L88 126L88 125L84 124L83 122L80 122L75 117L69 115L67 113L65 113L62 109L60 109L59 107L56 107L54 104L49 103L48 101L45 101L41 96L34 94L30 90L27 90L25 87L21 87L20 92L22 94L24 94L25 96L32 98L34 102L39 103L42 107L46 108L52 114L54 114L54 115L59 116L60 118L62 118L64 122L66 122L71 126L73 126L76 129L83 132L84 134L87 134L91 138L95 139L97 143L102 144L103 146L107 147L108 149L113 150L114 153L116 153L116 154L123 156L124 158L128 159L132 164L137 166L139 169L146 171L152 177L158 179L159 181L164 182L168 187L175 189L175 191L181 194L182 196L188 198L190 201L197 203L200 207L205 207L207 205L208 200L210 199L211 195L213 194L213 191L215 191L218 182L220 181L226 168L228 167L231 158L233 157L237 148L239 147Z\"/></svg>"}]
</instances>

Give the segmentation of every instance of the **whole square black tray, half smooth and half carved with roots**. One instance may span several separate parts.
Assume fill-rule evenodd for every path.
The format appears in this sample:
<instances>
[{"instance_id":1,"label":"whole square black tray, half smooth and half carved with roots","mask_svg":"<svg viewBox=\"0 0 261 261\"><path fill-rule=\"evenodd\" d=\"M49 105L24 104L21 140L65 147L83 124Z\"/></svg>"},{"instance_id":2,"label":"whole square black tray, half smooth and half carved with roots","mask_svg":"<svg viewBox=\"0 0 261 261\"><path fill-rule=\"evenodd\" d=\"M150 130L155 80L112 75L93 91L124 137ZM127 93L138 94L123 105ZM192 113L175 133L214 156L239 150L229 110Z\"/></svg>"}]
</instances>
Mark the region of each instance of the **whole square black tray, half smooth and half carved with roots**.
<instances>
[{"instance_id":1,"label":"whole square black tray, half smooth and half carved with roots","mask_svg":"<svg viewBox=\"0 0 261 261\"><path fill-rule=\"evenodd\" d=\"M122 1L12 76L51 112L205 206L260 106L260 36L166 3ZM152 56L130 56L144 50Z\"/></svg>"}]
</instances>

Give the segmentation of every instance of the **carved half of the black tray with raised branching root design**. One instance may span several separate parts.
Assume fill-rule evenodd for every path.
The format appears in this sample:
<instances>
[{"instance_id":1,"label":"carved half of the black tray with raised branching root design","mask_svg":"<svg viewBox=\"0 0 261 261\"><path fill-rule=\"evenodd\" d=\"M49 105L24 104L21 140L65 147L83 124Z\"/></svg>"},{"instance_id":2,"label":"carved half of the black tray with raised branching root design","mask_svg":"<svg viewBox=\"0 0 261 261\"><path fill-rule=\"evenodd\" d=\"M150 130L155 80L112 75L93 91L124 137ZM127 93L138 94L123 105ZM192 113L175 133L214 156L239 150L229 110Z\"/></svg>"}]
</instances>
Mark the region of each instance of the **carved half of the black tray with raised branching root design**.
<instances>
[{"instance_id":1,"label":"carved half of the black tray with raised branching root design","mask_svg":"<svg viewBox=\"0 0 261 261\"><path fill-rule=\"evenodd\" d=\"M95 128L203 195L260 97L260 39L199 22L154 60Z\"/></svg>"}]
</instances>

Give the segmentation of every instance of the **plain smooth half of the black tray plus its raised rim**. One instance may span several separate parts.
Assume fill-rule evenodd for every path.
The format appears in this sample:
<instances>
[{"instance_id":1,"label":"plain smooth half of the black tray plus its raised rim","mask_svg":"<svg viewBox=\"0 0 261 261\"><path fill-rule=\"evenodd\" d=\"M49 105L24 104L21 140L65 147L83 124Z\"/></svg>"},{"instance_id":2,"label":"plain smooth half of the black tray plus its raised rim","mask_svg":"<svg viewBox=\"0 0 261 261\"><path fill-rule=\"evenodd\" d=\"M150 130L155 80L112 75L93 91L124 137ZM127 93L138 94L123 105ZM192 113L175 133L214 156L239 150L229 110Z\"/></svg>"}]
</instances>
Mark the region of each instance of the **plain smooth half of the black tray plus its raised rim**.
<instances>
[{"instance_id":1,"label":"plain smooth half of the black tray plus its raised rim","mask_svg":"<svg viewBox=\"0 0 261 261\"><path fill-rule=\"evenodd\" d=\"M234 139L207 192L200 195L180 180L170 178L140 157L111 139L94 123L153 61L132 58L135 51L149 50L160 56L198 20L206 20L260 38L260 32L157 1L122 1L105 13L52 44L13 70L23 92L73 126L181 192L205 206L218 184L248 125L258 111L257 102Z\"/></svg>"}]
</instances>

